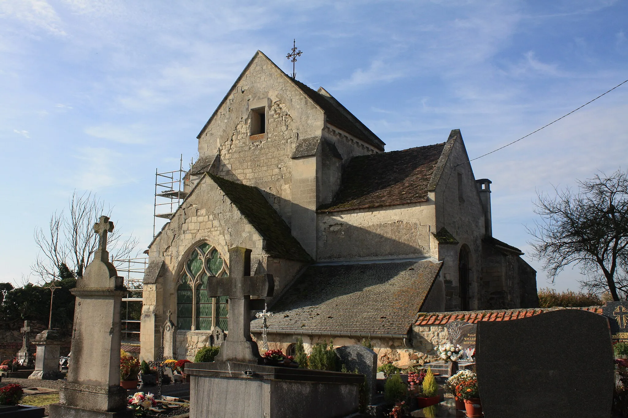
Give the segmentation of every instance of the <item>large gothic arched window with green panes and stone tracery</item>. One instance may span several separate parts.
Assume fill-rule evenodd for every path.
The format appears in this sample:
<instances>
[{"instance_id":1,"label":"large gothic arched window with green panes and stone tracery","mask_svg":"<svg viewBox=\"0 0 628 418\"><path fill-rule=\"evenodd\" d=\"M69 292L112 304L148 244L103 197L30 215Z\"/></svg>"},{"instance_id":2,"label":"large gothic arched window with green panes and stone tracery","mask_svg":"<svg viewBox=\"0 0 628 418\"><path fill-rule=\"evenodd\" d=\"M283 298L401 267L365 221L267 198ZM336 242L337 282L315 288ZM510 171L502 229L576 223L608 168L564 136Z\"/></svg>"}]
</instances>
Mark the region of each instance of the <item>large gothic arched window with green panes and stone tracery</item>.
<instances>
[{"instance_id":1,"label":"large gothic arched window with green panes and stone tracery","mask_svg":"<svg viewBox=\"0 0 628 418\"><path fill-rule=\"evenodd\" d=\"M222 254L208 243L194 246L183 263L176 291L177 327L180 330L227 331L227 297L209 298L207 283L212 277L229 276Z\"/></svg>"}]
</instances>

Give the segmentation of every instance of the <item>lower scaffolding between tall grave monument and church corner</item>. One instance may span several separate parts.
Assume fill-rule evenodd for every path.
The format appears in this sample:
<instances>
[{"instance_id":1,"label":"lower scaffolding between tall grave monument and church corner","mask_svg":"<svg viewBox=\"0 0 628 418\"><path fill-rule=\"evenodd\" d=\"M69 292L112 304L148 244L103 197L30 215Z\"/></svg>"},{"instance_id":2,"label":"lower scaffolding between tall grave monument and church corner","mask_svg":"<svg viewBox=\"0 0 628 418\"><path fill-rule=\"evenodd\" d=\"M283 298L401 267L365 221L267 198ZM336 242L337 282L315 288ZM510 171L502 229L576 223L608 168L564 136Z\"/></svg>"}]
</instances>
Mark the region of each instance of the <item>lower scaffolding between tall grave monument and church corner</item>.
<instances>
[{"instance_id":1,"label":"lower scaffolding between tall grave monument and church corner","mask_svg":"<svg viewBox=\"0 0 628 418\"><path fill-rule=\"evenodd\" d=\"M142 288L148 257L112 259L119 275L124 277L126 295L122 298L122 343L139 343L139 325L142 313Z\"/></svg>"}]
</instances>

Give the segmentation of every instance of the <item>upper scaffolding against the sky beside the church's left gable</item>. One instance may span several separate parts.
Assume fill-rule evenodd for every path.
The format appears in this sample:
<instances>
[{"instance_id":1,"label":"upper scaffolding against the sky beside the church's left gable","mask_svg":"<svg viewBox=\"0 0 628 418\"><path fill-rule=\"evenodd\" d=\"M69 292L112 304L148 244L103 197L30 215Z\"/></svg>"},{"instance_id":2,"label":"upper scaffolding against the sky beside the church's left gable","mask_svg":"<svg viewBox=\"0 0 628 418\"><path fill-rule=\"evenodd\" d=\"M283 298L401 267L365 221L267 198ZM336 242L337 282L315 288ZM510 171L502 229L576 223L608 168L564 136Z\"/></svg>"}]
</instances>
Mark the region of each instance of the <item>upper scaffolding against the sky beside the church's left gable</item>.
<instances>
[{"instance_id":1,"label":"upper scaffolding against the sky beside the church's left gable","mask_svg":"<svg viewBox=\"0 0 628 418\"><path fill-rule=\"evenodd\" d=\"M187 192L183 191L185 180L183 170L183 154L181 154L179 169L160 173L155 170L155 198L153 211L153 238L156 234L157 218L171 219L180 206Z\"/></svg>"}]
</instances>

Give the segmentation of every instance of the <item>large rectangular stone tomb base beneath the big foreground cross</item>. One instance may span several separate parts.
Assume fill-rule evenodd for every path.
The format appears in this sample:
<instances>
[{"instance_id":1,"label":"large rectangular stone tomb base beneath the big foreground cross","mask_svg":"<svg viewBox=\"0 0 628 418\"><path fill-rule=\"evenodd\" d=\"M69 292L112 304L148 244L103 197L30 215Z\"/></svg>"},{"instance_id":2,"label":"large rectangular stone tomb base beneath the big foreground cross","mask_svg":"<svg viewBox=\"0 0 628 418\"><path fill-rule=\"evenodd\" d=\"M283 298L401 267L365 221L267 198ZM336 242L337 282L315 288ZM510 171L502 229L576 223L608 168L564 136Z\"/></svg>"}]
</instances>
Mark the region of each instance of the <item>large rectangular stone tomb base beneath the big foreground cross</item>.
<instances>
[{"instance_id":1,"label":"large rectangular stone tomb base beneath the big foreground cross","mask_svg":"<svg viewBox=\"0 0 628 418\"><path fill-rule=\"evenodd\" d=\"M190 418L332 418L358 410L363 375L239 362L188 363Z\"/></svg>"}]
</instances>

